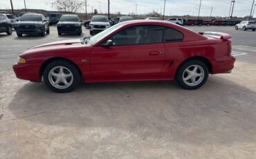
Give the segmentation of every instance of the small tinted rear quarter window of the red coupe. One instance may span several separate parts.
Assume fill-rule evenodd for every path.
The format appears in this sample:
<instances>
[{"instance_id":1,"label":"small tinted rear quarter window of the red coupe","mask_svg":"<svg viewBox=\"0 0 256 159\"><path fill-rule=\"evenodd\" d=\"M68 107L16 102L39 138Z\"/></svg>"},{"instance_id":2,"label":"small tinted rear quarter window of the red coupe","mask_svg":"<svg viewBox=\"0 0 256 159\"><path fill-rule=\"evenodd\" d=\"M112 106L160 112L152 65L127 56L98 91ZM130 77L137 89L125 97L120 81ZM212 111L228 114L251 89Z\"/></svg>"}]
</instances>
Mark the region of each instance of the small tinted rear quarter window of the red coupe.
<instances>
[{"instance_id":1,"label":"small tinted rear quarter window of the red coupe","mask_svg":"<svg viewBox=\"0 0 256 159\"><path fill-rule=\"evenodd\" d=\"M163 35L164 42L179 42L183 41L183 33L172 28L165 28Z\"/></svg>"}]
</instances>

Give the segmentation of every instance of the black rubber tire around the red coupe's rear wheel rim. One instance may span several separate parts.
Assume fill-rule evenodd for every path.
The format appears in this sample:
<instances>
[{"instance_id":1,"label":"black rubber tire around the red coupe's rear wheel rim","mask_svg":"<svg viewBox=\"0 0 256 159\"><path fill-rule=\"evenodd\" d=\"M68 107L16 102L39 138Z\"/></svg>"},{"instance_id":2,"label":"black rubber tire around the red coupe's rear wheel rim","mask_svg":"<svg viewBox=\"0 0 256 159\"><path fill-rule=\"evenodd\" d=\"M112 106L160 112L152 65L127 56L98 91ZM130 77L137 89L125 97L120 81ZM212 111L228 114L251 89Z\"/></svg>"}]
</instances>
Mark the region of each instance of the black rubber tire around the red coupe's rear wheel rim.
<instances>
[{"instance_id":1,"label":"black rubber tire around the red coupe's rear wheel rim","mask_svg":"<svg viewBox=\"0 0 256 159\"><path fill-rule=\"evenodd\" d=\"M203 70L202 71L202 75L203 77L196 77L198 78L198 84L194 85L194 86L190 86L189 84L186 84L183 80L183 75L185 75L185 70L187 68L193 68L193 66L200 66L200 68ZM198 70L196 70L198 71ZM200 71L200 70L199 70ZM185 89L188 89L188 90L194 90L194 89L197 89L197 88L200 88L201 86L203 86L203 84L205 84L205 82L207 81L208 79L208 76L209 76L209 70L208 70L208 67L205 65L205 63L201 62L200 60L196 60L196 59L193 59L193 60L190 60L188 62L185 62L184 64L182 64L177 73L176 73L176 82L183 88ZM196 78L194 80L196 80ZM191 80L191 79L187 79L187 83L188 83L188 80ZM192 80L191 80L192 82Z\"/></svg>"}]
</instances>

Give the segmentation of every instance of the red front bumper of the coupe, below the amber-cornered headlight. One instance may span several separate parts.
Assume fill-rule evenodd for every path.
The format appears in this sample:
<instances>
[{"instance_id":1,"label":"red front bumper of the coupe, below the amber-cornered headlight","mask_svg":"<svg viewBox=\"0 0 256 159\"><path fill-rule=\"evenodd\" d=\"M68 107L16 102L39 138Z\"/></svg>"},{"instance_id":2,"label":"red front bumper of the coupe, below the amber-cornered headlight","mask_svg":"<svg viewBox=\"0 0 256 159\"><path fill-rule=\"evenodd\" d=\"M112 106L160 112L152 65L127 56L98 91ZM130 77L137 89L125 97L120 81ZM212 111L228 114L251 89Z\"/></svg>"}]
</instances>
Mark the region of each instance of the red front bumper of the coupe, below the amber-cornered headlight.
<instances>
[{"instance_id":1,"label":"red front bumper of the coupe, below the amber-cornered headlight","mask_svg":"<svg viewBox=\"0 0 256 159\"><path fill-rule=\"evenodd\" d=\"M39 77L39 65L30 65L30 64L14 64L12 66L15 75L19 79L30 80L33 82L41 82Z\"/></svg>"}]
</instances>

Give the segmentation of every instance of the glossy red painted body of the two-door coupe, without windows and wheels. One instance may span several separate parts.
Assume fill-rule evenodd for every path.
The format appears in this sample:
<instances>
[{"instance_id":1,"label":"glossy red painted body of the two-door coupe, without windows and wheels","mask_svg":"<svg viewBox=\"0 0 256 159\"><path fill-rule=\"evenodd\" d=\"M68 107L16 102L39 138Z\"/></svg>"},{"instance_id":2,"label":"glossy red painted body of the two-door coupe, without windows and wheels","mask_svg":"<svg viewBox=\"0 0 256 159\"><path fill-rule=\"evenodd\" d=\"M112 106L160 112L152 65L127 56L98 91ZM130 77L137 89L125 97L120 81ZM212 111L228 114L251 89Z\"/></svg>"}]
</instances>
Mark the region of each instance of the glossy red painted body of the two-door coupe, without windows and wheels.
<instances>
[{"instance_id":1,"label":"glossy red painted body of the two-door coupe, without windows and wheels","mask_svg":"<svg viewBox=\"0 0 256 159\"><path fill-rule=\"evenodd\" d=\"M138 25L170 27L183 32L184 39L163 44L100 46L116 32ZM31 48L20 55L26 64L14 64L13 69L20 79L40 82L45 64L61 58L75 64L85 82L170 80L185 60L200 58L208 62L210 73L227 73L235 63L230 55L230 35L216 34L219 37L205 37L165 21L127 21L93 46L80 44L80 39L75 39Z\"/></svg>"}]
</instances>

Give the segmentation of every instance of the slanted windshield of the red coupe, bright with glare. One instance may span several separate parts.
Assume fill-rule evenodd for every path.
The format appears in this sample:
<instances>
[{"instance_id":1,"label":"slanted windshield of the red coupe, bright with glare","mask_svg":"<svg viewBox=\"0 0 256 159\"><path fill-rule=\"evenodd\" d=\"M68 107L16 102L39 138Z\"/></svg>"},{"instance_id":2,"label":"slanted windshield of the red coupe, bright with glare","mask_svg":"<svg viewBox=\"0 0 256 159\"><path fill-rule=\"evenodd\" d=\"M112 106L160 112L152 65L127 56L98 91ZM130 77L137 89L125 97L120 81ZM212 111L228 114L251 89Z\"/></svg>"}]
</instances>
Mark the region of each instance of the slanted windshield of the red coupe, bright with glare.
<instances>
[{"instance_id":1,"label":"slanted windshield of the red coupe, bright with glare","mask_svg":"<svg viewBox=\"0 0 256 159\"><path fill-rule=\"evenodd\" d=\"M110 35L112 32L118 30L119 28L122 27L122 24L116 24L115 26L111 26L110 28L107 28L106 30L98 33L97 35L94 35L93 37L91 37L89 44L90 45L94 45L96 44L98 41L100 41L101 39L103 39L104 37L107 37L108 35Z\"/></svg>"}]
</instances>

